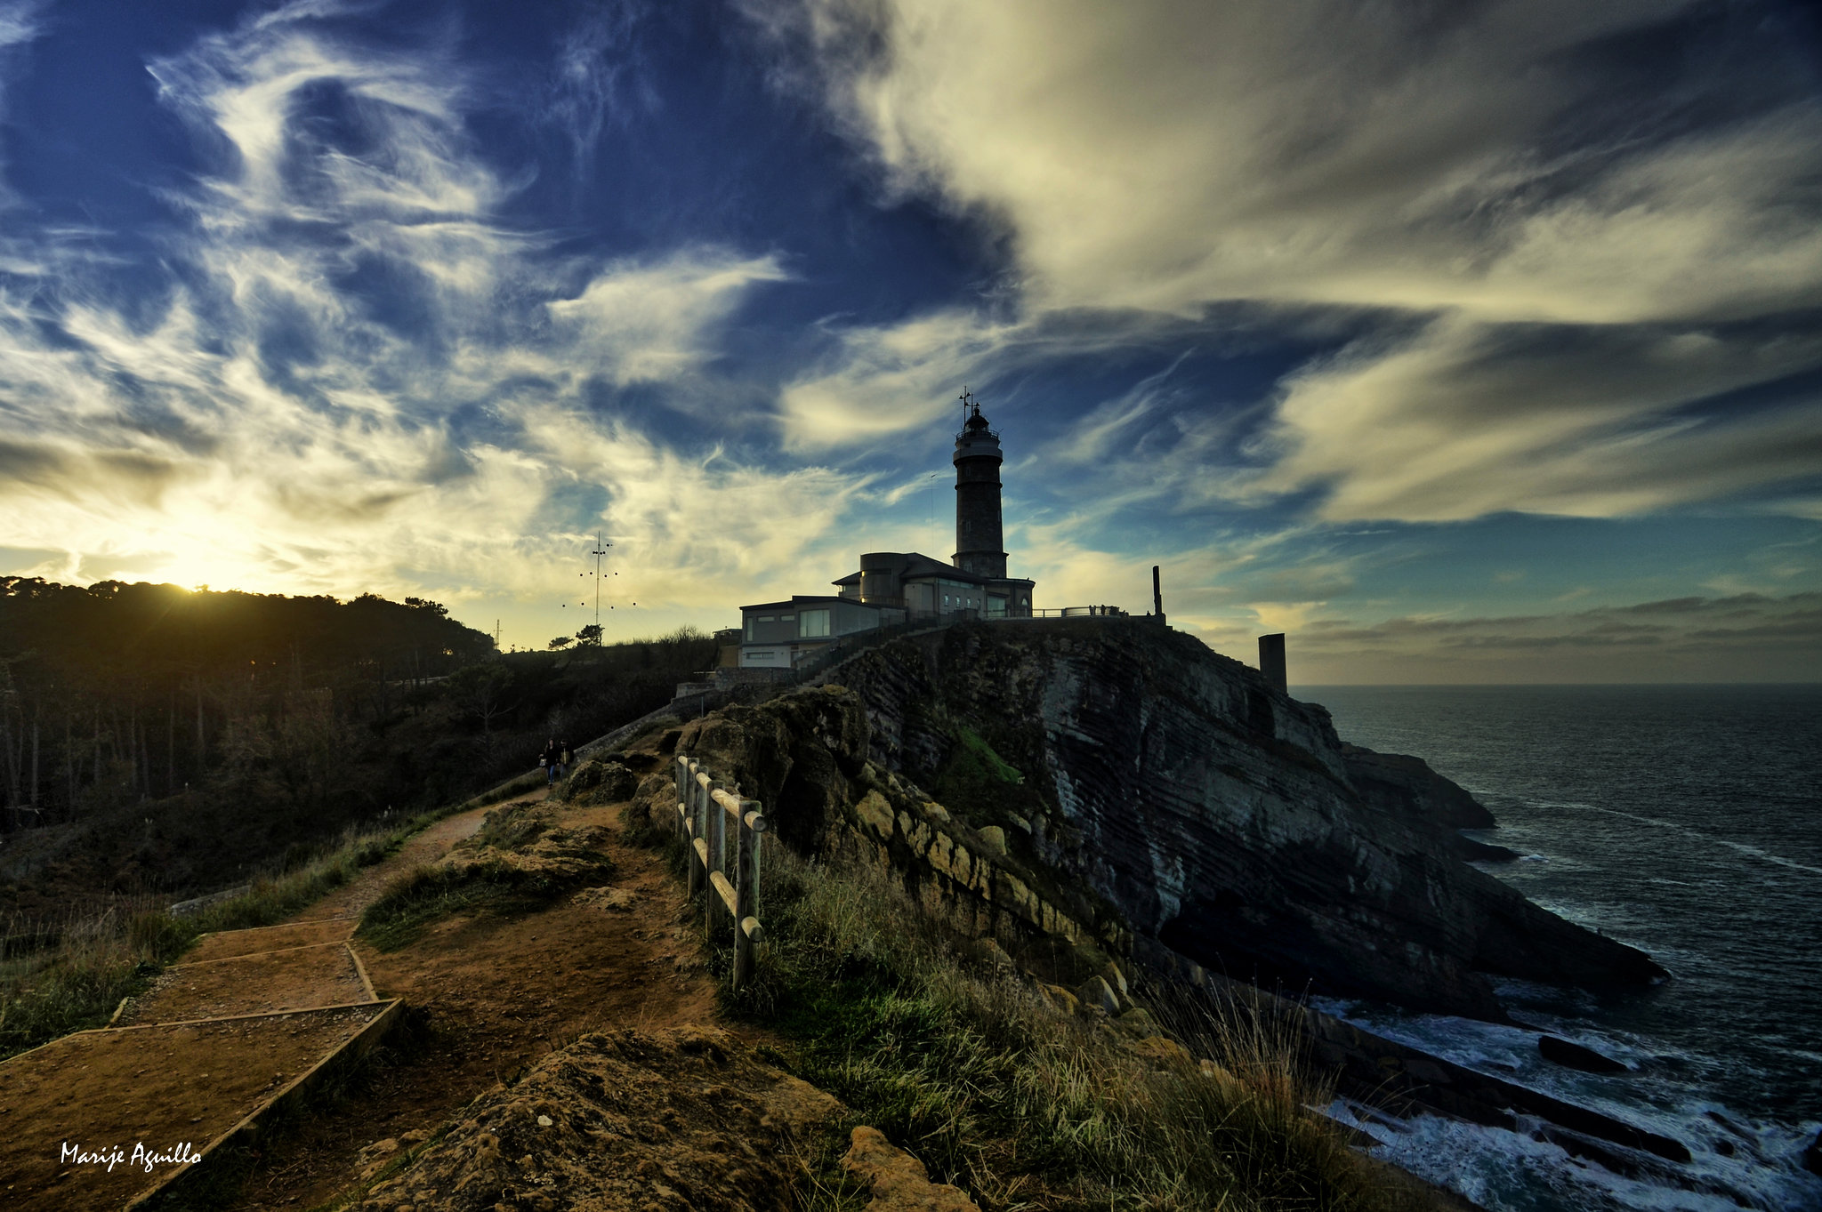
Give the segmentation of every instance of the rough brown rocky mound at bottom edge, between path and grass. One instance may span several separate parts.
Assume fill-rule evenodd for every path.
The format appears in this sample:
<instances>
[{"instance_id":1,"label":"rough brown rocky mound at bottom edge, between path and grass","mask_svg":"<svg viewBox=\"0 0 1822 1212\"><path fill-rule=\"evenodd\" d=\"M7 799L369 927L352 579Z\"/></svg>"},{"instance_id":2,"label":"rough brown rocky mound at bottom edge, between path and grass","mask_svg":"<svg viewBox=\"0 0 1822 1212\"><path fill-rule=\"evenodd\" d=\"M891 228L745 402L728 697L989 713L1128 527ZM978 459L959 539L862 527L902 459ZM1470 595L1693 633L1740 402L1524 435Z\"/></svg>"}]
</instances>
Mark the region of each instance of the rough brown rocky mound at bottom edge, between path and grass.
<instances>
[{"instance_id":1,"label":"rough brown rocky mound at bottom edge, between path and grass","mask_svg":"<svg viewBox=\"0 0 1822 1212\"><path fill-rule=\"evenodd\" d=\"M796 1150L838 1110L722 1030L585 1035L470 1103L361 1208L783 1212Z\"/></svg>"}]
</instances>

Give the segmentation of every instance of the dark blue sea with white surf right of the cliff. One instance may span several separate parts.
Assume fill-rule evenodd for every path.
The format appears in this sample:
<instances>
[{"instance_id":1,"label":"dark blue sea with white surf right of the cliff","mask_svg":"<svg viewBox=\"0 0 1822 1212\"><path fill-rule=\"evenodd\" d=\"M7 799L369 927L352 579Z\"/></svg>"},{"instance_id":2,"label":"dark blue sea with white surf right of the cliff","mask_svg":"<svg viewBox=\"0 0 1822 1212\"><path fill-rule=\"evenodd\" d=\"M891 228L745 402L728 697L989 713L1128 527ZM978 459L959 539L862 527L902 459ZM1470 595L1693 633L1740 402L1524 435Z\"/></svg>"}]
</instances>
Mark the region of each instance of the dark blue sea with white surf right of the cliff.
<instances>
[{"instance_id":1,"label":"dark blue sea with white surf right of the cliff","mask_svg":"<svg viewBox=\"0 0 1822 1212\"><path fill-rule=\"evenodd\" d=\"M1822 1210L1822 686L1294 686L1343 741L1416 753L1500 821L1476 863L1543 908L1651 954L1658 988L1596 997L1496 983L1510 1015L1623 1061L1592 1076L1536 1032L1363 1001L1321 1010L1684 1141L1634 1176L1529 1132L1356 1123L1372 1152L1496 1212ZM1361 1108L1337 1103L1343 1119ZM1521 1125L1523 1128L1523 1125Z\"/></svg>"}]
</instances>

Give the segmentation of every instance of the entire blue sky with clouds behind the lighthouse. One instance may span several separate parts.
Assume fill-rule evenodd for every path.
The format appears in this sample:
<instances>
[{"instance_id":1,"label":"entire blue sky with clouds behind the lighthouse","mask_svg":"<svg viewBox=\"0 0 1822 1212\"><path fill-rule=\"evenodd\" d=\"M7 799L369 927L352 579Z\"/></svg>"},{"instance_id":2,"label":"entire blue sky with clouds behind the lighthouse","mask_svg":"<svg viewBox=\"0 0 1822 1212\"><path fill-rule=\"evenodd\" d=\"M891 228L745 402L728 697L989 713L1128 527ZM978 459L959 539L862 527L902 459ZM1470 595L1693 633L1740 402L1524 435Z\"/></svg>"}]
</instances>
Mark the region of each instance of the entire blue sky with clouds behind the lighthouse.
<instances>
[{"instance_id":1,"label":"entire blue sky with clouds behind the lighthouse","mask_svg":"<svg viewBox=\"0 0 1822 1212\"><path fill-rule=\"evenodd\" d=\"M1822 681L1798 4L0 0L0 573L738 624L953 551L1294 684Z\"/></svg>"}]
</instances>

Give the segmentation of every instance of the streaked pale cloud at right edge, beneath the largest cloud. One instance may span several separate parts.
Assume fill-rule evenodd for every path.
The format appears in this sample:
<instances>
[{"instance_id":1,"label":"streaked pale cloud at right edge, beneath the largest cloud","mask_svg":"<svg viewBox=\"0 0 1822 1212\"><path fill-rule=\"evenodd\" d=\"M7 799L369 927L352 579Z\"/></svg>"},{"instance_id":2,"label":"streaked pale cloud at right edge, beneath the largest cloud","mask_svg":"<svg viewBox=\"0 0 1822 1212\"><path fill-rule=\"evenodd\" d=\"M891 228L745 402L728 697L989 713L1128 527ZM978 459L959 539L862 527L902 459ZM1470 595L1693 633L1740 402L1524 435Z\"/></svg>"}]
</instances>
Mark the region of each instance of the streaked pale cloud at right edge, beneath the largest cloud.
<instances>
[{"instance_id":1,"label":"streaked pale cloud at right edge, beneath the largest cloud","mask_svg":"<svg viewBox=\"0 0 1822 1212\"><path fill-rule=\"evenodd\" d=\"M1612 517L1822 468L1818 400L1704 415L1707 397L1822 362L1815 335L1512 329L1450 318L1286 382L1263 491L1328 486L1330 520L1500 510Z\"/></svg>"}]
</instances>

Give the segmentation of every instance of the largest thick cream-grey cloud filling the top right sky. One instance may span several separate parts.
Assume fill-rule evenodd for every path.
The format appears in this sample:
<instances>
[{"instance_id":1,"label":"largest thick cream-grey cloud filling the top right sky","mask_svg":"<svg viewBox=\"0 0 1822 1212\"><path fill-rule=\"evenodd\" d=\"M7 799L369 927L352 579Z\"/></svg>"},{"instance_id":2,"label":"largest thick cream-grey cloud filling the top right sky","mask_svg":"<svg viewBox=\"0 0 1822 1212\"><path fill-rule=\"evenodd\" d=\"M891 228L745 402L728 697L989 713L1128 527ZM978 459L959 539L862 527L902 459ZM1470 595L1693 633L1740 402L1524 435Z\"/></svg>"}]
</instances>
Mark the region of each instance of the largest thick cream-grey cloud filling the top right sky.
<instances>
[{"instance_id":1,"label":"largest thick cream-grey cloud filling the top right sky","mask_svg":"<svg viewBox=\"0 0 1822 1212\"><path fill-rule=\"evenodd\" d=\"M1634 106L1627 129L1552 149L1565 120L1607 100L1576 51L1684 7L807 13L827 93L891 180L1004 215L1046 306L1638 320L1813 302L1822 237L1791 200L1813 193L1815 106L1638 138L1665 98L1662 115Z\"/></svg>"}]
</instances>

